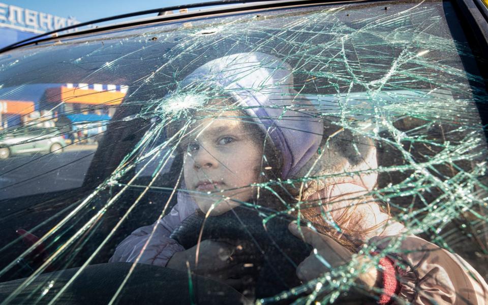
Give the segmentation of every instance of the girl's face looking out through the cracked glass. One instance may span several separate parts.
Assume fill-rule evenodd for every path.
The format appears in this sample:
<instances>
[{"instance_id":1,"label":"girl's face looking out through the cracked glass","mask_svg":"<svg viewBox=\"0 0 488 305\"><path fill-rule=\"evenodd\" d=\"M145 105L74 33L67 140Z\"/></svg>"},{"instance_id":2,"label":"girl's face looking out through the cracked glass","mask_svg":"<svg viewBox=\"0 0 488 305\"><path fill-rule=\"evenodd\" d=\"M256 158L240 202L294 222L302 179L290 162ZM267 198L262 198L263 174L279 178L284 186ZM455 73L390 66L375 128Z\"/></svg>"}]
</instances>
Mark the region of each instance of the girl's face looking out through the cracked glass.
<instances>
[{"instance_id":1,"label":"girl's face looking out through the cracked glass","mask_svg":"<svg viewBox=\"0 0 488 305\"><path fill-rule=\"evenodd\" d=\"M233 200L249 201L254 195L250 185L258 181L262 148L246 124L237 118L201 119L185 140L185 183L203 212L217 202L211 215L219 215L238 205Z\"/></svg>"}]
</instances>

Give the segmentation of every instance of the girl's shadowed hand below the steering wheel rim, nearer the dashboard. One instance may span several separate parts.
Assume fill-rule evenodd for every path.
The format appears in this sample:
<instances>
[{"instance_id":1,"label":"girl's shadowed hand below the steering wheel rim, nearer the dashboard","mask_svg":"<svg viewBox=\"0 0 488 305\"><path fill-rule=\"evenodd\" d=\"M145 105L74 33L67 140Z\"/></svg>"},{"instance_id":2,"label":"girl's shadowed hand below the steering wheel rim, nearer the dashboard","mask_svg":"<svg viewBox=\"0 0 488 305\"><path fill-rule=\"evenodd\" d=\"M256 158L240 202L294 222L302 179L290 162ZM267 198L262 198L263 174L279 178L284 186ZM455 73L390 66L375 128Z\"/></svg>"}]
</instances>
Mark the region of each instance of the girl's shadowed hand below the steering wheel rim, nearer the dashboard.
<instances>
[{"instance_id":1,"label":"girl's shadowed hand below the steering wheel rim, nearer the dashboard","mask_svg":"<svg viewBox=\"0 0 488 305\"><path fill-rule=\"evenodd\" d=\"M245 264L241 246L223 241L203 240L188 250L176 252L166 267L178 270L192 270L198 275L215 279L239 289L252 271ZM246 262L247 263L247 262Z\"/></svg>"}]
</instances>

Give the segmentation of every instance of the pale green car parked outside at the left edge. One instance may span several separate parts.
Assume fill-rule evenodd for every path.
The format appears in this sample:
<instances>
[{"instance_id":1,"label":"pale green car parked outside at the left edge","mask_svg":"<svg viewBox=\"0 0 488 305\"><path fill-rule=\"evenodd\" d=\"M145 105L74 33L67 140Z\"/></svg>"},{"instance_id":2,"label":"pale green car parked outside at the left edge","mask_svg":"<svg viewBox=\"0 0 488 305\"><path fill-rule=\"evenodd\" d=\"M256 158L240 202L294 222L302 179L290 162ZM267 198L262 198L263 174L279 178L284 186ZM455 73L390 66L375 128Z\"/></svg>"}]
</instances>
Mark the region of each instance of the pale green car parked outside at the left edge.
<instances>
[{"instance_id":1,"label":"pale green car parked outside at the left edge","mask_svg":"<svg viewBox=\"0 0 488 305\"><path fill-rule=\"evenodd\" d=\"M49 134L46 129L26 128L16 135L0 138L0 159L7 159L17 154L48 152L62 153L66 146L65 139L56 134Z\"/></svg>"}]
</instances>

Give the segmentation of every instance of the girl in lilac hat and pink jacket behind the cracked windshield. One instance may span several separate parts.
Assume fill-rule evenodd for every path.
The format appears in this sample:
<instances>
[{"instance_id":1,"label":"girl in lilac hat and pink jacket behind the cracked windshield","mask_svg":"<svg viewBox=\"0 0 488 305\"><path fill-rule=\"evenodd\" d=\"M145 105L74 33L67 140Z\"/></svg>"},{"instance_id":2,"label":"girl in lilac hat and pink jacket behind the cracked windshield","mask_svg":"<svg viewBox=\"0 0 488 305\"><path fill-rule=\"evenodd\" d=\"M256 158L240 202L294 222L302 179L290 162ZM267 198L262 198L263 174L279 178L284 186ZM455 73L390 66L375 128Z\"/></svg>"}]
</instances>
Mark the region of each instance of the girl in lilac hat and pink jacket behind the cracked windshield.
<instances>
[{"instance_id":1,"label":"girl in lilac hat and pink jacket behind the cracked windshield","mask_svg":"<svg viewBox=\"0 0 488 305\"><path fill-rule=\"evenodd\" d=\"M211 104L235 103L252 119L236 119L241 116L239 112L228 111L230 107L227 107L221 117L197 120L191 127L193 134L184 143L189 153L184 159L184 181L189 191L178 192L177 204L161 221L139 228L121 242L110 261L186 270L187 262L193 264L198 256L199 273L217 276L232 285L240 271L235 272L228 263L238 251L234 245L205 240L197 254L195 247L185 250L168 236L197 207L210 215L218 215L231 209L235 202L256 199L257 189L251 186L262 181L260 172L265 172L267 167L278 169L266 163L269 158L261 158L269 157L265 150L270 146L263 143L269 140L271 147L276 148L275 155L280 155L281 165L276 174L282 179L361 172L377 167L371 141L347 131L327 132L330 137L322 136L322 119L303 111L310 109L310 104L298 99L290 89L293 86L290 71L287 64L270 55L234 54L212 60L181 83L181 87L192 92L222 88L220 99L228 101L227 96L232 102L214 99ZM177 101L175 106L180 107L181 98ZM293 107L297 104L302 111ZM232 118L226 119L229 116ZM250 127L253 125L254 129ZM348 141L359 144L354 149L342 147ZM330 176L333 178L311 179L295 189L287 189L300 202L315 204L303 205L302 214L318 232L290 226L292 233L317 249L317 254L298 266L300 279L311 281L331 268L348 263L362 244L374 245L377 252L381 252L386 249L388 238L405 237L401 240L400 253L388 253L390 259L380 260L383 272L370 268L360 275L359 280L365 287L384 288L384 293L378 296L380 303L394 300L393 294L400 300L418 304L485 302L488 288L476 271L461 258L423 239L407 236L405 228L394 222L368 195L376 185L375 173ZM215 195L204 194L215 191L223 194L223 197L219 195L218 204ZM369 260L368 256L359 258L365 262ZM190 267L196 268L195 265Z\"/></svg>"}]
</instances>

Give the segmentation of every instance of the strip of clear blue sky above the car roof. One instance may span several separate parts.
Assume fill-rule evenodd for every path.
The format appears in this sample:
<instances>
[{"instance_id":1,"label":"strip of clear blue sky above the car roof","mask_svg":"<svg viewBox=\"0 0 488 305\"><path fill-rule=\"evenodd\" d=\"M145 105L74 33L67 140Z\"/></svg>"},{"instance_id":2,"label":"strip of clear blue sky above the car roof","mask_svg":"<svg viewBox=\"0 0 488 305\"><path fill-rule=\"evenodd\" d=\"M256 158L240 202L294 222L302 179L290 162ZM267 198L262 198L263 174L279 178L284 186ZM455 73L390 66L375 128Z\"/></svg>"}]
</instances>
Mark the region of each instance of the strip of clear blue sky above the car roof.
<instances>
[{"instance_id":1,"label":"strip of clear blue sky above the car roof","mask_svg":"<svg viewBox=\"0 0 488 305\"><path fill-rule=\"evenodd\" d=\"M164 7L185 5L185 4L192 4L192 3L201 3L201 2L205 2L205 0L163 0L163 1L161 0L160 1L157 0L143 0L143 1L0 0L0 2L8 5L15 5L24 9L56 15L59 17L72 16L75 17L76 20L80 22L84 22L84 21L90 21L98 18L149 10L149 9L157 9L157 8L164 8Z\"/></svg>"}]
</instances>

